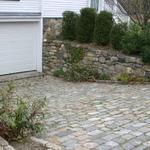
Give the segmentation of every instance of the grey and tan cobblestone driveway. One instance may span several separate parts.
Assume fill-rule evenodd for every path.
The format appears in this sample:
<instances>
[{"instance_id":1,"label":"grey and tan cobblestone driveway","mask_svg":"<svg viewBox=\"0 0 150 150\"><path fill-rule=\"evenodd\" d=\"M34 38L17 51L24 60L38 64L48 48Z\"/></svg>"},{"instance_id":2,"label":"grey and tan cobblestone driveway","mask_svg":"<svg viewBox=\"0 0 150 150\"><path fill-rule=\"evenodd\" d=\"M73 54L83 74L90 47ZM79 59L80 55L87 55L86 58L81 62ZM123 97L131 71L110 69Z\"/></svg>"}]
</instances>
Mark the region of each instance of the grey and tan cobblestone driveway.
<instances>
[{"instance_id":1,"label":"grey and tan cobblestone driveway","mask_svg":"<svg viewBox=\"0 0 150 150\"><path fill-rule=\"evenodd\" d=\"M150 149L150 85L17 81L18 93L49 100L43 138L63 150Z\"/></svg>"}]
</instances>

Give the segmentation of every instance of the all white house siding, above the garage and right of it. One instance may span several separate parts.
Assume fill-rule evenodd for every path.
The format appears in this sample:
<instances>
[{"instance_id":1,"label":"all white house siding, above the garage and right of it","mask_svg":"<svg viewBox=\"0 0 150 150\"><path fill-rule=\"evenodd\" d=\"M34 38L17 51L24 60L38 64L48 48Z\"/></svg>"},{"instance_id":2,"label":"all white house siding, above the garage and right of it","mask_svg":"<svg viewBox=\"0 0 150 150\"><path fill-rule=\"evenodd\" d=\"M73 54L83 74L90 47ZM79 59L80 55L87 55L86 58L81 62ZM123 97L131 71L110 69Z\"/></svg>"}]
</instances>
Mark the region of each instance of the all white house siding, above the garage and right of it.
<instances>
[{"instance_id":1,"label":"all white house siding, above the garage and right of it","mask_svg":"<svg viewBox=\"0 0 150 150\"><path fill-rule=\"evenodd\" d=\"M20 0L0 1L0 12L42 12L43 17L61 18L65 10L79 12L89 0Z\"/></svg>"}]
</instances>

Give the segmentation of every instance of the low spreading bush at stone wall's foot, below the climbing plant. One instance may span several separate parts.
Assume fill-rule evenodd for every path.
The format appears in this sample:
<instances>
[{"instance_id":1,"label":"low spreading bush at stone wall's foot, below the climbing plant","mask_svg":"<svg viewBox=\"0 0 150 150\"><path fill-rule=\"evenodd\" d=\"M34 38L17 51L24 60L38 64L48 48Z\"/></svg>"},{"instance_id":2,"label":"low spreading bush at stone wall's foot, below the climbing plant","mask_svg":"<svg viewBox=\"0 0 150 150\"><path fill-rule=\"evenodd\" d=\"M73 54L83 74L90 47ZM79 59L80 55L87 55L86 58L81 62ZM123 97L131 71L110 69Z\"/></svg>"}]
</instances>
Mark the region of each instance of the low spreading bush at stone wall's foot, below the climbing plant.
<instances>
[{"instance_id":1,"label":"low spreading bush at stone wall's foot, below the climbing plant","mask_svg":"<svg viewBox=\"0 0 150 150\"><path fill-rule=\"evenodd\" d=\"M74 82L95 81L99 79L99 73L90 66L72 64L65 73L65 79Z\"/></svg>"}]
</instances>

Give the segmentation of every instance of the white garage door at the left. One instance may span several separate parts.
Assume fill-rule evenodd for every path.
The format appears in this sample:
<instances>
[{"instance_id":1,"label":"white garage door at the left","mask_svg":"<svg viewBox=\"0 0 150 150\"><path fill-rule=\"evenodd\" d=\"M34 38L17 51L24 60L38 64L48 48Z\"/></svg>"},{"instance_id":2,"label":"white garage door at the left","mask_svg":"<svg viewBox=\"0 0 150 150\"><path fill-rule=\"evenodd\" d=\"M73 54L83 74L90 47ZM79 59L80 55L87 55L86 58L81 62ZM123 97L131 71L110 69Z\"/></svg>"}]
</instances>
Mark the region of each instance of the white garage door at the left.
<instances>
[{"instance_id":1,"label":"white garage door at the left","mask_svg":"<svg viewBox=\"0 0 150 150\"><path fill-rule=\"evenodd\" d=\"M36 70L38 23L0 23L0 75Z\"/></svg>"}]
</instances>

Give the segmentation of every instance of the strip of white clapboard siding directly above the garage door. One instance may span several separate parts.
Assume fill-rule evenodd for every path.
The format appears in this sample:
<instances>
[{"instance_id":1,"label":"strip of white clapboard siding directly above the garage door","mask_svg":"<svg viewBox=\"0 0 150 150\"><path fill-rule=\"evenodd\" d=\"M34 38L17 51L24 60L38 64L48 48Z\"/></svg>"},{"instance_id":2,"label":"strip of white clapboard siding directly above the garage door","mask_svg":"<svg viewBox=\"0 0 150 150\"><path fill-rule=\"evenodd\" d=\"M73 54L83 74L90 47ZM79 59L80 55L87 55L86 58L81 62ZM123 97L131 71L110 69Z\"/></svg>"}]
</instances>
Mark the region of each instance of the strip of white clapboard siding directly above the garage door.
<instances>
[{"instance_id":1,"label":"strip of white clapboard siding directly above the garage door","mask_svg":"<svg viewBox=\"0 0 150 150\"><path fill-rule=\"evenodd\" d=\"M41 12L41 0L0 0L0 12Z\"/></svg>"}]
</instances>

